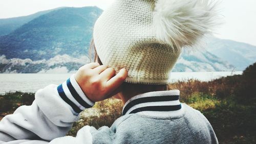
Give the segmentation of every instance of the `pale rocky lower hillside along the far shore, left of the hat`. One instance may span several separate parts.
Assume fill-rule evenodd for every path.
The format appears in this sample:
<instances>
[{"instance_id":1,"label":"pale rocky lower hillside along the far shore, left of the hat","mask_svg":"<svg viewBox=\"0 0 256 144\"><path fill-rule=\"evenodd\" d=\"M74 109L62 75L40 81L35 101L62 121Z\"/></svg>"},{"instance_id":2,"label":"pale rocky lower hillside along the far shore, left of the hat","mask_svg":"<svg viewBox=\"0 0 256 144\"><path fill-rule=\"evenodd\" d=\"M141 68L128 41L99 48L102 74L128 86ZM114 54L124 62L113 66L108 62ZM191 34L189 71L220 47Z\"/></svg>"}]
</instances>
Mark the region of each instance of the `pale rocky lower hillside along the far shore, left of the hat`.
<instances>
[{"instance_id":1,"label":"pale rocky lower hillside along the far shore, left of the hat","mask_svg":"<svg viewBox=\"0 0 256 144\"><path fill-rule=\"evenodd\" d=\"M56 55L48 60L31 60L29 58L6 59L0 56L0 73L69 73L78 70L81 66L89 63L87 56L78 58L67 54Z\"/></svg>"}]
</instances>

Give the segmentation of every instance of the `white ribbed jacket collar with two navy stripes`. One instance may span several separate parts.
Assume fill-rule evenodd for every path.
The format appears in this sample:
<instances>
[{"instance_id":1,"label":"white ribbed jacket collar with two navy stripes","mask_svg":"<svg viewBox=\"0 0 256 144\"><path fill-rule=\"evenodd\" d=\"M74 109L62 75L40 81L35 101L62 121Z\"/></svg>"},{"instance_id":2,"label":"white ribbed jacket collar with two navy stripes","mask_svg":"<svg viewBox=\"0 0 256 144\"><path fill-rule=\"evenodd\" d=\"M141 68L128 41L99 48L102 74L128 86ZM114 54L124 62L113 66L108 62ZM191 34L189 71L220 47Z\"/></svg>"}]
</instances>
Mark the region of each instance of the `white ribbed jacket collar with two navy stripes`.
<instances>
[{"instance_id":1,"label":"white ribbed jacket collar with two navy stripes","mask_svg":"<svg viewBox=\"0 0 256 144\"><path fill-rule=\"evenodd\" d=\"M171 112L181 110L180 91L154 91L136 95L126 101L123 115L138 112Z\"/></svg>"}]
</instances>

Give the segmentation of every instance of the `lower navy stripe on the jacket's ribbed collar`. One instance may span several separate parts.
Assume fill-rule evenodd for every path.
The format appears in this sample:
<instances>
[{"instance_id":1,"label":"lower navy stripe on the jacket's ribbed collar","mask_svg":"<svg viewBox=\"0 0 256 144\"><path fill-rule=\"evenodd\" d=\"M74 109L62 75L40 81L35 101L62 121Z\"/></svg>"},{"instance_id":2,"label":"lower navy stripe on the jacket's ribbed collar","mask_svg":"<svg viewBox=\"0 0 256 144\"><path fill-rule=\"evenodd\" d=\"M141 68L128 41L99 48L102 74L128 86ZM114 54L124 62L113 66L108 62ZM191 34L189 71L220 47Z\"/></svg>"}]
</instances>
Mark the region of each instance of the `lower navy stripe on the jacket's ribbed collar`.
<instances>
[{"instance_id":1,"label":"lower navy stripe on the jacket's ribbed collar","mask_svg":"<svg viewBox=\"0 0 256 144\"><path fill-rule=\"evenodd\" d=\"M137 113L142 111L177 111L181 109L181 105L175 105L175 106L150 106L150 107L141 107L134 109L131 113ZM125 113L123 114L125 115Z\"/></svg>"}]
</instances>

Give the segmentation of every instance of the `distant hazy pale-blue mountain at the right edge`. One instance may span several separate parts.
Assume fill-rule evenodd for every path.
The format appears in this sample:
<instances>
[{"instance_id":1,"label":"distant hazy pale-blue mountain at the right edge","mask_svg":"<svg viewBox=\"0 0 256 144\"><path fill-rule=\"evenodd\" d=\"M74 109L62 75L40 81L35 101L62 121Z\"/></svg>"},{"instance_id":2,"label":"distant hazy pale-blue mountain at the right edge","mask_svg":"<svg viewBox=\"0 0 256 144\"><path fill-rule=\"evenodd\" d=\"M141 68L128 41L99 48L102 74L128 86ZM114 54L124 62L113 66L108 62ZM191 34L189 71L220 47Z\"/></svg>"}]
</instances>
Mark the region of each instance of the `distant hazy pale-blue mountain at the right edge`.
<instances>
[{"instance_id":1,"label":"distant hazy pale-blue mountain at the right edge","mask_svg":"<svg viewBox=\"0 0 256 144\"><path fill-rule=\"evenodd\" d=\"M209 39L206 50L228 61L237 71L243 71L256 62L256 46L233 40L212 37Z\"/></svg>"}]
</instances>

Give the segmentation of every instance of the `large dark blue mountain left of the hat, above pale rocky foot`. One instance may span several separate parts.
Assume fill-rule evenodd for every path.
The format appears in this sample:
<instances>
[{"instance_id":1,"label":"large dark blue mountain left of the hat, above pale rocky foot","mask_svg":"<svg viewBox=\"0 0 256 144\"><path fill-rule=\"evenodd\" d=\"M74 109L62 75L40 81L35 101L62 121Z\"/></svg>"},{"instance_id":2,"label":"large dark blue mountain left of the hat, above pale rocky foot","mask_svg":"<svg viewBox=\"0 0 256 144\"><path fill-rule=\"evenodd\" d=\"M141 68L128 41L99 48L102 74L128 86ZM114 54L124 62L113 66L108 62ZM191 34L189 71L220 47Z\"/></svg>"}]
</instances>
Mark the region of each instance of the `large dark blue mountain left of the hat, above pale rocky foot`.
<instances>
[{"instance_id":1,"label":"large dark blue mountain left of the hat, above pale rocky foot","mask_svg":"<svg viewBox=\"0 0 256 144\"><path fill-rule=\"evenodd\" d=\"M0 37L0 54L6 58L50 59L87 54L93 25L102 10L97 7L61 8L40 15Z\"/></svg>"}]
</instances>

